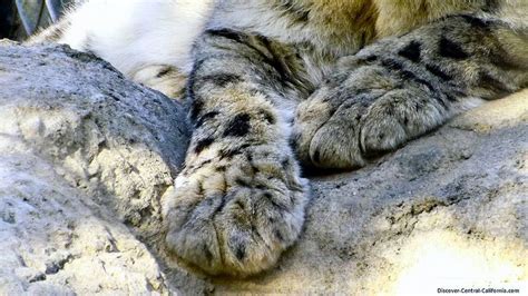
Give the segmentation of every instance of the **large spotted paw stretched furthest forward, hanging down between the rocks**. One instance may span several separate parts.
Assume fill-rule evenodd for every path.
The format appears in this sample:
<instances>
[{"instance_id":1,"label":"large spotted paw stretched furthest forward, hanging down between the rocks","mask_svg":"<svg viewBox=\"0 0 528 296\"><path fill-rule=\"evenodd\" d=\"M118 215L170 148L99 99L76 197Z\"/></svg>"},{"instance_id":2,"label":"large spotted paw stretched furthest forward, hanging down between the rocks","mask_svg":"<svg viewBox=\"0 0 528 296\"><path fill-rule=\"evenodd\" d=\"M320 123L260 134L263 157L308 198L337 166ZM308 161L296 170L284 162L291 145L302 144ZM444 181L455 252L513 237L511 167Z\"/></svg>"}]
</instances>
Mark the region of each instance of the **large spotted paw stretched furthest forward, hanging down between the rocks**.
<instances>
[{"instance_id":1,"label":"large spotted paw stretched furthest forward, hanging down between the rocks","mask_svg":"<svg viewBox=\"0 0 528 296\"><path fill-rule=\"evenodd\" d=\"M169 250L212 275L272 267L302 229L307 197L299 174L291 152L264 145L187 161L164 200Z\"/></svg>"}]
</instances>

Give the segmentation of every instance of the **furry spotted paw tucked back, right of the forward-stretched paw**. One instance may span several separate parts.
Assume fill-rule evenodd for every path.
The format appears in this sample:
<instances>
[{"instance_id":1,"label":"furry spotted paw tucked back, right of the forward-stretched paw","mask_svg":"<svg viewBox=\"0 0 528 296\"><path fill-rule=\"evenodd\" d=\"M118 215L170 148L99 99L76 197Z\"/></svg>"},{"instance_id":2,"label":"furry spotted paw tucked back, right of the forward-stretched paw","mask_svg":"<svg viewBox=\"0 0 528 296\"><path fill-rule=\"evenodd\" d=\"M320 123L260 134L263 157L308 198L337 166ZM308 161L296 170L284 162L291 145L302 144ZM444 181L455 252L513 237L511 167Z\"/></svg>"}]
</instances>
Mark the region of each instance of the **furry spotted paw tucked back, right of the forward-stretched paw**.
<instances>
[{"instance_id":1,"label":"furry spotted paw tucked back, right of the forward-stretched paw","mask_svg":"<svg viewBox=\"0 0 528 296\"><path fill-rule=\"evenodd\" d=\"M309 166L364 166L365 158L398 148L449 115L442 95L377 65L333 79L297 107L293 141Z\"/></svg>"}]
</instances>

